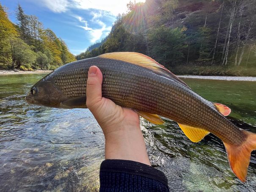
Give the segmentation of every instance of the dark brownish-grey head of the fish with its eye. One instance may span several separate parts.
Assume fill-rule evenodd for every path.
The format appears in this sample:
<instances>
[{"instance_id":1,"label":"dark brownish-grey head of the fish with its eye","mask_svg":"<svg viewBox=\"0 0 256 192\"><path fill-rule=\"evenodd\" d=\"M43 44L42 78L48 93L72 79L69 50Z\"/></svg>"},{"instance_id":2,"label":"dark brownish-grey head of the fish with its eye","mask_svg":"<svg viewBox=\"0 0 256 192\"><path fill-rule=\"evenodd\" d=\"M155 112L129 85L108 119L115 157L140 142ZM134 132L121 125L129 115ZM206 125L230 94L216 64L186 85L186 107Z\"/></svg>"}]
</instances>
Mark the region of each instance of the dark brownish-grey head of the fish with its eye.
<instances>
[{"instance_id":1,"label":"dark brownish-grey head of the fish with its eye","mask_svg":"<svg viewBox=\"0 0 256 192\"><path fill-rule=\"evenodd\" d=\"M42 105L47 107L59 107L61 91L54 83L54 79L47 75L30 88L26 96L29 104Z\"/></svg>"}]
</instances>

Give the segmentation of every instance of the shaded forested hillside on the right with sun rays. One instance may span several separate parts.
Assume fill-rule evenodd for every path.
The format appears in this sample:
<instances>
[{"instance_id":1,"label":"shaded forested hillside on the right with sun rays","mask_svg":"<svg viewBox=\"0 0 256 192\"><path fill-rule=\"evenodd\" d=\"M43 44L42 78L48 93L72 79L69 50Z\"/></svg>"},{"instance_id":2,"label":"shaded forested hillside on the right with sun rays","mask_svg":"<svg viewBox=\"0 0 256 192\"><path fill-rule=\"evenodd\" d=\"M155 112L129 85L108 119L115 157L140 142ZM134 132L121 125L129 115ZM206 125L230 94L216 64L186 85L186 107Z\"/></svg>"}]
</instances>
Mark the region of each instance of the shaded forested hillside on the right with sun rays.
<instances>
[{"instance_id":1,"label":"shaded forested hillside on the right with sun rays","mask_svg":"<svg viewBox=\"0 0 256 192\"><path fill-rule=\"evenodd\" d=\"M127 5L102 45L151 56L176 73L256 75L255 0L146 0Z\"/></svg>"}]
</instances>

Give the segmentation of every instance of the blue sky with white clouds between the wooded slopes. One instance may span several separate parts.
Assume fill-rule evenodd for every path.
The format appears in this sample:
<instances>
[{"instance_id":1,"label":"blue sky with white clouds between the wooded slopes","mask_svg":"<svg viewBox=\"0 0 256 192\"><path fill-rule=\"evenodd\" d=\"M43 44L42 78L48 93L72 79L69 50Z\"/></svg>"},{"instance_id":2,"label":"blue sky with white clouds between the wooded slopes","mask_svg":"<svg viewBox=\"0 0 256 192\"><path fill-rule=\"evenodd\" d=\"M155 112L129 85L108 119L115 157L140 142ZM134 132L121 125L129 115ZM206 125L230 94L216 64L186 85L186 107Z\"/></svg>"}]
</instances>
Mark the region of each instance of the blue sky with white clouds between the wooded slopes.
<instances>
[{"instance_id":1,"label":"blue sky with white clouds between the wooded slopes","mask_svg":"<svg viewBox=\"0 0 256 192\"><path fill-rule=\"evenodd\" d=\"M19 3L28 15L35 15L61 37L74 55L106 37L118 13L126 13L130 0L0 0L16 23ZM133 0L132 0L133 1ZM136 0L145 2L145 0Z\"/></svg>"}]
</instances>

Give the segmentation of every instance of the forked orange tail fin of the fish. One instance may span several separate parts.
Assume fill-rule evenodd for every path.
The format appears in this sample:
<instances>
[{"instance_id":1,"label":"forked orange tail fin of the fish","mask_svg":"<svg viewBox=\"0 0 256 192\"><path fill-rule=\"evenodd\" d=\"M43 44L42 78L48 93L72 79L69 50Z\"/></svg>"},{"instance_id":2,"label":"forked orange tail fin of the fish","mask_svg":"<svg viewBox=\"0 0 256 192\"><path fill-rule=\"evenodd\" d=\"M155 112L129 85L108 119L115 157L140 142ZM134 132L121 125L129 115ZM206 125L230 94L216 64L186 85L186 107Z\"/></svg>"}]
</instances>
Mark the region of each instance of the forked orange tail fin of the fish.
<instances>
[{"instance_id":1,"label":"forked orange tail fin of the fish","mask_svg":"<svg viewBox=\"0 0 256 192\"><path fill-rule=\"evenodd\" d=\"M246 181L247 168L250 163L250 153L256 149L256 134L242 130L247 136L242 145L235 146L224 143L228 153L229 165L235 175L242 181Z\"/></svg>"}]
</instances>

